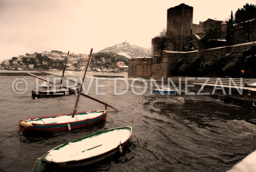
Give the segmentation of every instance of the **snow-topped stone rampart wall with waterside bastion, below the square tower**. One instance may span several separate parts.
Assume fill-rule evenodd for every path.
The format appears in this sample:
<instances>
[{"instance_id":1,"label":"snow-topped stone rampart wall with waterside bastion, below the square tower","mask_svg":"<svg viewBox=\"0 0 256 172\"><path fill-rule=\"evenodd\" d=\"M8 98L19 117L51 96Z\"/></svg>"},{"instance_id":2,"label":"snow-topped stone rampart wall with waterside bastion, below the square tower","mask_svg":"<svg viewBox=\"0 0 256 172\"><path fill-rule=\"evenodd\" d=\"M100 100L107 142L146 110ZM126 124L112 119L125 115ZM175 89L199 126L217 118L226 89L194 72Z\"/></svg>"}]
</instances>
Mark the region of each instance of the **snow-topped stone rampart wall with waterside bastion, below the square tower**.
<instances>
[{"instance_id":1,"label":"snow-topped stone rampart wall with waterside bastion, below the square tower","mask_svg":"<svg viewBox=\"0 0 256 172\"><path fill-rule=\"evenodd\" d=\"M216 55L228 54L238 57L241 51L247 49L250 44L244 43L232 46L217 47L202 51L191 52L175 52L163 51L162 57L145 57L129 59L128 77L144 77L144 78L168 78L172 77L171 70L175 61L179 58L184 58L185 61L190 61L195 57L202 56L206 61L211 61Z\"/></svg>"}]
</instances>

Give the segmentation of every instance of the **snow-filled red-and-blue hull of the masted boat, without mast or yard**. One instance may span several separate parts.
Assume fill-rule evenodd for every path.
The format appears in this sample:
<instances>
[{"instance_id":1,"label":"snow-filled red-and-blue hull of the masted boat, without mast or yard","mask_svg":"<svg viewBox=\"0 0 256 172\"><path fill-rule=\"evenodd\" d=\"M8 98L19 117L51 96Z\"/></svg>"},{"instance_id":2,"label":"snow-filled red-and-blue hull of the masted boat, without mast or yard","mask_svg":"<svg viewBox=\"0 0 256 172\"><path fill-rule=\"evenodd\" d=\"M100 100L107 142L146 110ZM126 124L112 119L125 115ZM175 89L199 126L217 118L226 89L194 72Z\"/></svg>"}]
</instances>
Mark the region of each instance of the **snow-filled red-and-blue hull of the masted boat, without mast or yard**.
<instances>
[{"instance_id":1,"label":"snow-filled red-and-blue hull of the masted boat, without mast or yard","mask_svg":"<svg viewBox=\"0 0 256 172\"><path fill-rule=\"evenodd\" d=\"M102 111L93 110L78 112L73 118L72 113L28 118L26 121L19 120L19 132L54 132L71 130L94 125L97 122L106 120L106 118L107 106L105 106L105 110Z\"/></svg>"}]
</instances>

